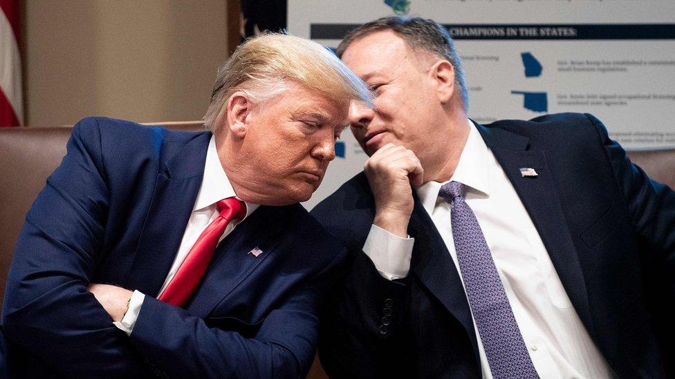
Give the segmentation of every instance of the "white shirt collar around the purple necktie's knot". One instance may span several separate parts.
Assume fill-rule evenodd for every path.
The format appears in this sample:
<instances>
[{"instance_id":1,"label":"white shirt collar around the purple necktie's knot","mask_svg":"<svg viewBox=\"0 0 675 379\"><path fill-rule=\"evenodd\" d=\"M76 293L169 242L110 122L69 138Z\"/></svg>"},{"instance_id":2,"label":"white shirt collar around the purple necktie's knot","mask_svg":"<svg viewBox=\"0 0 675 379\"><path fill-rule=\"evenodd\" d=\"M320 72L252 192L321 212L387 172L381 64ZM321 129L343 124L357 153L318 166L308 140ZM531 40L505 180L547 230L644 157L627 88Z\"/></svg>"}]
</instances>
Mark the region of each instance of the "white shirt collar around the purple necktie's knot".
<instances>
[{"instance_id":1,"label":"white shirt collar around the purple necktie's knot","mask_svg":"<svg viewBox=\"0 0 675 379\"><path fill-rule=\"evenodd\" d=\"M460 182L475 191L490 195L488 146L483 141L476 125L469 119L467 122L470 125L469 137L459 157L457 168L447 182ZM427 182L417 188L417 195L429 215L436 206L438 191L441 191L441 186L447 182Z\"/></svg>"}]
</instances>

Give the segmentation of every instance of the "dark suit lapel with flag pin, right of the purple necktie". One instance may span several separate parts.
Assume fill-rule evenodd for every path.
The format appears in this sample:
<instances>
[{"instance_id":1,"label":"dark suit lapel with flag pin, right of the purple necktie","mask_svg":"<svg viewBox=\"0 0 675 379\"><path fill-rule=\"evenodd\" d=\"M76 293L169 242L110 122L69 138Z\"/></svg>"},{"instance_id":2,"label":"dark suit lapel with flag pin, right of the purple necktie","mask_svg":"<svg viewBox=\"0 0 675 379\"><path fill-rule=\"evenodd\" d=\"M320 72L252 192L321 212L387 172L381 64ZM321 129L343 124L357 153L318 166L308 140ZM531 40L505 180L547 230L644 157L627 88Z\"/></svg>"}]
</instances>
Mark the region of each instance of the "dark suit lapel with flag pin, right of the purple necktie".
<instances>
[{"instance_id":1,"label":"dark suit lapel with flag pin, right of the purple necktie","mask_svg":"<svg viewBox=\"0 0 675 379\"><path fill-rule=\"evenodd\" d=\"M586 328L593 332L588 293L579 257L567 227L560 197L543 150L527 150L528 137L503 129L478 129L523 202ZM520 168L534 168L536 177L522 177Z\"/></svg>"}]
</instances>

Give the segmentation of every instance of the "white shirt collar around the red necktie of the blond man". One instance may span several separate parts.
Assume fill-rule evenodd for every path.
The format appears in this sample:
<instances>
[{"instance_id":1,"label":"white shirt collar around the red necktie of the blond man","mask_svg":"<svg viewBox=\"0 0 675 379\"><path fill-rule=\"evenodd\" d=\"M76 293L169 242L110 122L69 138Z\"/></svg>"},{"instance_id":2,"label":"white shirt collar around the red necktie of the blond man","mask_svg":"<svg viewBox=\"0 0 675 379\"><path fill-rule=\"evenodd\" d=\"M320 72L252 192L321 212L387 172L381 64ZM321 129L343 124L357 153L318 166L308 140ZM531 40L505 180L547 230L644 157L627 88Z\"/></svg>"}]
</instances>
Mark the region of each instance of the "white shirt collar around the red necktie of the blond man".
<instances>
[{"instance_id":1,"label":"white shirt collar around the red necktie of the blond man","mask_svg":"<svg viewBox=\"0 0 675 379\"><path fill-rule=\"evenodd\" d=\"M219 159L216 150L216 137L212 135L209 142L209 148L206 151L204 178L201 182L201 187L197 193L197 200L194 202L192 211L199 211L207 206L212 206L225 198L233 196L237 197L237 193L234 193L232 183L230 183L230 179L228 179L228 175L223 169L223 165L221 164L221 160ZM239 197L237 197L237 199L239 199ZM259 207L259 204L245 203L246 217Z\"/></svg>"}]
</instances>

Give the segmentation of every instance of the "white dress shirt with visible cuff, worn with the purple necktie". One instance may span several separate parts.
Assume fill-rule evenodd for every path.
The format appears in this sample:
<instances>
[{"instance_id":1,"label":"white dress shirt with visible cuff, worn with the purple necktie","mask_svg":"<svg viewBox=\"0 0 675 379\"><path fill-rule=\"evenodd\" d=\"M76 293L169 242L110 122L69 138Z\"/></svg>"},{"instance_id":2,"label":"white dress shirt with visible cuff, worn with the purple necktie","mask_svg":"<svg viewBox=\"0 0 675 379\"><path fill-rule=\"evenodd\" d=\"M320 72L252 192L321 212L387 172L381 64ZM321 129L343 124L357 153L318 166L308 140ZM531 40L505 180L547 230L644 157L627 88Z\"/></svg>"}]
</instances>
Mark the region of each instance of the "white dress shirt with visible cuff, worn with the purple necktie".
<instances>
[{"instance_id":1,"label":"white dress shirt with visible cuff, worn with the purple necktie","mask_svg":"<svg viewBox=\"0 0 675 379\"><path fill-rule=\"evenodd\" d=\"M615 378L616 373L572 307L546 247L515 189L473 124L450 180L465 184L466 202L485 235L539 376ZM450 204L438 197L442 185L427 182L416 188L416 192L461 273L452 238ZM373 260L382 276L393 280L407 275L413 244L414 239L400 238L373 225L364 244L364 253ZM474 331L483 378L492 378L475 321Z\"/></svg>"}]
</instances>

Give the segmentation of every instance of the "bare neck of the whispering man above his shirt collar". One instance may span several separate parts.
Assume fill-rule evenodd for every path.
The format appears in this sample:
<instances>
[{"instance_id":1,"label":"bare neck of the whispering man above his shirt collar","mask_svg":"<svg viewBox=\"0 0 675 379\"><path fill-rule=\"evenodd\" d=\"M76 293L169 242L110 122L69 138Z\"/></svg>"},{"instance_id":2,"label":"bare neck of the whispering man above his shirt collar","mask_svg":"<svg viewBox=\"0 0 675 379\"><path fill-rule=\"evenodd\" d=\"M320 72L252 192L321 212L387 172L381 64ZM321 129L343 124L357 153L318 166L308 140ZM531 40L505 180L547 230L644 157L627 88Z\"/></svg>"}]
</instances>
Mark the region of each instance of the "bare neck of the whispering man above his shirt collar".
<instances>
[{"instance_id":1,"label":"bare neck of the whispering man above his shirt collar","mask_svg":"<svg viewBox=\"0 0 675 379\"><path fill-rule=\"evenodd\" d=\"M434 137L441 144L429 149L431 150L429 157L422 159L425 183L446 182L452 177L469 138L470 128L470 122L463 112L447 119L447 123L441 128L441 133ZM439 152L445 153L439 154Z\"/></svg>"}]
</instances>

